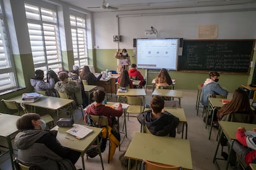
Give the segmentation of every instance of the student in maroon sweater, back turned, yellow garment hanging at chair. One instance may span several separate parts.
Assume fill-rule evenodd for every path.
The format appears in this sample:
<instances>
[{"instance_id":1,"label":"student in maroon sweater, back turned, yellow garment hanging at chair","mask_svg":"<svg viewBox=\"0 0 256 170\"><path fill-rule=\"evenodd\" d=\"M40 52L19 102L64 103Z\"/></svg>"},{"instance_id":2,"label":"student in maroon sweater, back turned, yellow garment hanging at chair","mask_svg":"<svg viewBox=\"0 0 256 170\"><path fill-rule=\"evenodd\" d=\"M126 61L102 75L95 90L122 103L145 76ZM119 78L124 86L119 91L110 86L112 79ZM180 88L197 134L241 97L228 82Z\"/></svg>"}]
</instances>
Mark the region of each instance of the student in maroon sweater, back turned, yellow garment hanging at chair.
<instances>
[{"instance_id":1,"label":"student in maroon sweater, back turned, yellow garment hanging at chair","mask_svg":"<svg viewBox=\"0 0 256 170\"><path fill-rule=\"evenodd\" d=\"M122 104L119 103L117 108L111 108L103 105L103 101L105 100L105 91L98 89L93 92L93 98L96 103L92 103L87 108L85 108L85 114L96 115L96 116L106 116L108 117L108 138L111 142L110 153L109 153L109 161L113 161L114 152L116 151L116 147L119 146L120 135L115 134L111 131L111 127L113 126L113 118L120 117L122 115ZM106 138L106 128L105 131L101 131L103 138ZM115 136L116 135L116 136ZM118 136L119 135L119 136ZM101 147L101 152L105 150L106 147L106 139L102 142L103 147Z\"/></svg>"}]
</instances>

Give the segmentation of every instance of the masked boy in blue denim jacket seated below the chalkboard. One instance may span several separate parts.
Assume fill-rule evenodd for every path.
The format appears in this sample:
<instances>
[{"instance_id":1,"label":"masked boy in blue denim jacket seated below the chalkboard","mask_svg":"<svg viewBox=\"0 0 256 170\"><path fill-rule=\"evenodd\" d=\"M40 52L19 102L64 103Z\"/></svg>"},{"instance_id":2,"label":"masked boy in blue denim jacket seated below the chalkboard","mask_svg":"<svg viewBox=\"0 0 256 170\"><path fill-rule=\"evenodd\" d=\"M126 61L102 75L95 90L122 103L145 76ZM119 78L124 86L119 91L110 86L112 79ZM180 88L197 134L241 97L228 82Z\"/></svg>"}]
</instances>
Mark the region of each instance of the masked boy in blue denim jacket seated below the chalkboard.
<instances>
[{"instance_id":1,"label":"masked boy in blue denim jacket seated below the chalkboard","mask_svg":"<svg viewBox=\"0 0 256 170\"><path fill-rule=\"evenodd\" d=\"M220 74L217 71L211 71L209 73L209 77L203 83L202 89L202 98L201 103L203 106L208 106L208 97L210 94L212 95L222 95L225 98L228 96L228 91L223 89L220 84L218 84Z\"/></svg>"}]
</instances>

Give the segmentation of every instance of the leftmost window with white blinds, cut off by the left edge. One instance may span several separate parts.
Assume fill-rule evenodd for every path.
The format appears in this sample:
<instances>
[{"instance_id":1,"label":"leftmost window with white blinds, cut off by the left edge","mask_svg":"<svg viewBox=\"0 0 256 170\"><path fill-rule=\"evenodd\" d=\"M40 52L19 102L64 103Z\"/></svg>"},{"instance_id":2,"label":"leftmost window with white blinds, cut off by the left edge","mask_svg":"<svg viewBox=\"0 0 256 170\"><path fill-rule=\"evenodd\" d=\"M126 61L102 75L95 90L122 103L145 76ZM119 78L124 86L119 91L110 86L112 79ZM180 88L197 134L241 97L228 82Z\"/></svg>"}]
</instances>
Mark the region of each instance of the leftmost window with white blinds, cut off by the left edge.
<instances>
[{"instance_id":1,"label":"leftmost window with white blinds, cut off by the left edge","mask_svg":"<svg viewBox=\"0 0 256 170\"><path fill-rule=\"evenodd\" d=\"M0 4L0 92L17 87L15 68L10 56L6 23L1 6L2 4Z\"/></svg>"}]
</instances>

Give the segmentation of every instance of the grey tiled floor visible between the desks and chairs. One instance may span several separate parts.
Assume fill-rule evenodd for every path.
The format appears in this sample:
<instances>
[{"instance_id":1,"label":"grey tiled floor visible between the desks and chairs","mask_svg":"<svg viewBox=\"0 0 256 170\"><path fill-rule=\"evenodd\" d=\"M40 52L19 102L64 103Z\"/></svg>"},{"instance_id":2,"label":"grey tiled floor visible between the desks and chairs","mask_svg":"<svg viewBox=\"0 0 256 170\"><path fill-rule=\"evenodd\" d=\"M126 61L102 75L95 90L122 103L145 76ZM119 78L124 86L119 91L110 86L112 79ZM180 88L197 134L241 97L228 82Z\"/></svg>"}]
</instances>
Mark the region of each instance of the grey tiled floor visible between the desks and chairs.
<instances>
[{"instance_id":1,"label":"grey tiled floor visible between the desks and chairs","mask_svg":"<svg viewBox=\"0 0 256 170\"><path fill-rule=\"evenodd\" d=\"M149 103L151 99L151 89L147 90L147 97L146 97L146 103ZM231 99L232 94L229 94L228 99ZM190 147L191 147L191 154L192 154L192 163L193 163L193 169L200 170L200 169L218 169L216 164L213 164L213 155L215 153L216 149L216 135L218 133L217 129L213 129L211 140L208 140L208 129L205 129L205 123L203 123L202 118L202 111L199 111L199 115L197 116L197 112L195 110L195 101L197 98L197 91L188 91L184 90L183 98L181 99L181 107L184 108L186 113L186 118L188 122L188 135L187 140L190 141ZM116 101L116 97L113 95L112 99L109 99L109 101ZM38 110L40 112L47 112L46 110ZM81 111L79 109L74 111L74 121L75 123L84 124L82 115L80 113ZM56 115L54 113L51 113L53 118L56 120ZM66 113L61 113L60 115L62 118L69 117ZM120 124L122 124L124 120L124 117L122 116L120 118ZM103 153L103 161L104 161L104 167L107 170L114 170L114 169L126 169L121 166L121 162L119 161L119 156L125 152L127 147L129 146L130 140L132 140L132 136L135 132L140 132L140 124L137 121L137 118L129 118L129 121L127 121L127 138L124 139L124 142L121 145L121 151L119 152L119 149L116 149L116 153L114 155L114 160L112 163L108 164L107 158L108 158L108 148L106 148L105 152ZM123 134L121 134L121 137L124 137ZM181 138L181 134L177 134L176 137ZM0 140L1 144L4 142L4 140ZM108 145L107 145L108 146ZM17 154L17 152L15 152ZM171 153L170 153L171 154ZM220 152L218 153L218 156L220 156ZM75 166L77 169L82 168L82 160L77 161ZM224 169L224 166L226 165L226 161L218 161L220 164L220 169ZM100 163L100 157L96 156L95 158L88 158L86 160L85 156L85 168L88 170L90 169L101 169L101 163ZM9 153L2 156L0 158L0 169L11 169L11 161L9 160ZM135 169L135 168L133 168ZM231 166L229 166L229 169L233 169Z\"/></svg>"}]
</instances>

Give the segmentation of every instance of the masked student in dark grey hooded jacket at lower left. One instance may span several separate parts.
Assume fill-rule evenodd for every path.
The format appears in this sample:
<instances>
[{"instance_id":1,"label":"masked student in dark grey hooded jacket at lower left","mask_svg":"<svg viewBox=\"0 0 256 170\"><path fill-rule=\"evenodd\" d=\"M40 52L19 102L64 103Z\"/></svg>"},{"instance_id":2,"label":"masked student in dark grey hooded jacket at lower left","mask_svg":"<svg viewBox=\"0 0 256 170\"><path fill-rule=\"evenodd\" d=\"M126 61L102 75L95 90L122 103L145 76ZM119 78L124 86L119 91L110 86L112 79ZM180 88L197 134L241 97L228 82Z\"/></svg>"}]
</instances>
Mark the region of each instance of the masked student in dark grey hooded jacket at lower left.
<instances>
[{"instance_id":1,"label":"masked student in dark grey hooded jacket at lower left","mask_svg":"<svg viewBox=\"0 0 256 170\"><path fill-rule=\"evenodd\" d=\"M80 152L63 147L56 139L57 131L45 131L46 123L36 113L22 115L16 122L19 133L14 143L18 160L41 170L75 170Z\"/></svg>"}]
</instances>

